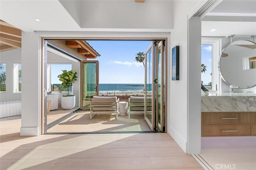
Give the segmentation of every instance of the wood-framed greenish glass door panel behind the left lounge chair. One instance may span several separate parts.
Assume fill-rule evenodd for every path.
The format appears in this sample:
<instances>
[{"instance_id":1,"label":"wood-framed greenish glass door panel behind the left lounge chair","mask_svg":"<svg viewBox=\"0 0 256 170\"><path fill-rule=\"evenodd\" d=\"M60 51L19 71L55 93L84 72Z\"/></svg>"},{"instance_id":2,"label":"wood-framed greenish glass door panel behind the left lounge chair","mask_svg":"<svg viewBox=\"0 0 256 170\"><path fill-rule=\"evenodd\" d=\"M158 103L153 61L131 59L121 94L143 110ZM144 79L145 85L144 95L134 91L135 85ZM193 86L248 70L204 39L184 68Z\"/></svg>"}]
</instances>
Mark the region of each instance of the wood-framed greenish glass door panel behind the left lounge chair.
<instances>
[{"instance_id":1,"label":"wood-framed greenish glass door panel behind the left lounge chair","mask_svg":"<svg viewBox=\"0 0 256 170\"><path fill-rule=\"evenodd\" d=\"M98 96L98 87L98 61L81 61L81 109L90 109L92 97Z\"/></svg>"}]
</instances>

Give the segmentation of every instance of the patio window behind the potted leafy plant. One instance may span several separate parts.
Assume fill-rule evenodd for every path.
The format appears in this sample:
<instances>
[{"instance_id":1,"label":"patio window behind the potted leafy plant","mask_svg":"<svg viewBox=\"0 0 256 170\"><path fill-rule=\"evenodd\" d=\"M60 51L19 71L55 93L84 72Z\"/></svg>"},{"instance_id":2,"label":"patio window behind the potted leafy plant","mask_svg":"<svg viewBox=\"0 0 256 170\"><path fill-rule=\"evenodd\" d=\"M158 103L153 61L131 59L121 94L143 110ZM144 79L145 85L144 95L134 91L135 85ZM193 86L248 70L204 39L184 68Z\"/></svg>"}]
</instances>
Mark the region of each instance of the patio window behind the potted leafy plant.
<instances>
[{"instance_id":1,"label":"patio window behind the potted leafy plant","mask_svg":"<svg viewBox=\"0 0 256 170\"><path fill-rule=\"evenodd\" d=\"M72 64L47 64L47 91L72 91L61 86L61 81L58 78L62 74L62 70L72 70Z\"/></svg>"}]
</instances>

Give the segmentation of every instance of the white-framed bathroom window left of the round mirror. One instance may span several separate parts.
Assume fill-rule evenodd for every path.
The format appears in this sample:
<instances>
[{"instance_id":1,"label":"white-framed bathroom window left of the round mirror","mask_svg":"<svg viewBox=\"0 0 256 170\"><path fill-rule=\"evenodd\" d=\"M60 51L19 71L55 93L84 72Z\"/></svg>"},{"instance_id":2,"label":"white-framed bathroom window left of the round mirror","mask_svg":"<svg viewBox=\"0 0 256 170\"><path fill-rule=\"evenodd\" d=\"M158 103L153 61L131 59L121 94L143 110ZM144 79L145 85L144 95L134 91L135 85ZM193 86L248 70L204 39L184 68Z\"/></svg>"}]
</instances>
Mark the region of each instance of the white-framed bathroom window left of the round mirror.
<instances>
[{"instance_id":1,"label":"white-framed bathroom window left of the round mirror","mask_svg":"<svg viewBox=\"0 0 256 170\"><path fill-rule=\"evenodd\" d=\"M221 50L221 39L202 39L202 70L206 66L206 71L202 72L202 84L210 90L221 92L221 76L219 76L218 60Z\"/></svg>"}]
</instances>

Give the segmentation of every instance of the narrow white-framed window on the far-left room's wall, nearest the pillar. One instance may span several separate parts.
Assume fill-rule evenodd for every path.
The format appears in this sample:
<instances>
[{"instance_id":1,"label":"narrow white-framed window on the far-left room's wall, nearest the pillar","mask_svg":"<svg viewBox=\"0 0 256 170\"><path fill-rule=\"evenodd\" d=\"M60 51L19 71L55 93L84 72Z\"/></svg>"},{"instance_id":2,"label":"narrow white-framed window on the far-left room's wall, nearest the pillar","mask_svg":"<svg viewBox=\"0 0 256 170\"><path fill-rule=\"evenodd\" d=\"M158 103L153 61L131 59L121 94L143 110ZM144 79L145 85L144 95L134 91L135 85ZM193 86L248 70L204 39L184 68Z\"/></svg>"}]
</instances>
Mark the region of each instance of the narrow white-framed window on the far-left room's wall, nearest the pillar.
<instances>
[{"instance_id":1,"label":"narrow white-framed window on the far-left room's wall, nearest the pillar","mask_svg":"<svg viewBox=\"0 0 256 170\"><path fill-rule=\"evenodd\" d=\"M14 63L13 68L14 93L21 92L21 64Z\"/></svg>"}]
</instances>

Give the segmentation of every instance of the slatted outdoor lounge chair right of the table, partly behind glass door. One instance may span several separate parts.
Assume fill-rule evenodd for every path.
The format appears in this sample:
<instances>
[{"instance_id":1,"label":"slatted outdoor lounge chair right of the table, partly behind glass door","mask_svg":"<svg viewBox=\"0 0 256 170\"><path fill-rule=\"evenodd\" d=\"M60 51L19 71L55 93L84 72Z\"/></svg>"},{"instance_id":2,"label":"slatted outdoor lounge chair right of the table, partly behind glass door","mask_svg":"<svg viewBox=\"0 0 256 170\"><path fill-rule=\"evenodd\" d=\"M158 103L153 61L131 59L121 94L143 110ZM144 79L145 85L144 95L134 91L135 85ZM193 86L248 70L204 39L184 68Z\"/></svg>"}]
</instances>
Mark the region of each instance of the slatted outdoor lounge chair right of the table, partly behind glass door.
<instances>
[{"instance_id":1,"label":"slatted outdoor lounge chair right of the table, partly behind glass door","mask_svg":"<svg viewBox=\"0 0 256 170\"><path fill-rule=\"evenodd\" d=\"M144 96L130 96L128 106L128 118L131 113L144 113ZM152 111L152 97L147 97L147 111Z\"/></svg>"}]
</instances>

